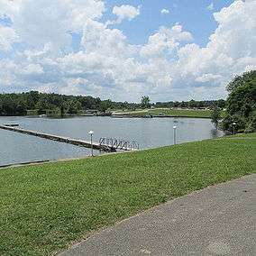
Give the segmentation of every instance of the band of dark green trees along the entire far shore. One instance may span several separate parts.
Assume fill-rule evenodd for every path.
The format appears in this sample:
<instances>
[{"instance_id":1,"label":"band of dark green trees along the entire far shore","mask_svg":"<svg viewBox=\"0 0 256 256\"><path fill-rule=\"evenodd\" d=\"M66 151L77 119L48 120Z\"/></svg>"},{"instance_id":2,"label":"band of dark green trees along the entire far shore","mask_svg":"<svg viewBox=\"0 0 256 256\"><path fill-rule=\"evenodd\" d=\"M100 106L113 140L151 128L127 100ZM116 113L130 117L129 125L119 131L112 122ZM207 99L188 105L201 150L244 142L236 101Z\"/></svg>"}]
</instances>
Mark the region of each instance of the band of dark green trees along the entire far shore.
<instances>
[{"instance_id":1,"label":"band of dark green trees along the entire far shore","mask_svg":"<svg viewBox=\"0 0 256 256\"><path fill-rule=\"evenodd\" d=\"M114 102L111 100L101 100L92 96L65 96L54 93L40 93L30 91L26 93L0 94L0 115L26 115L36 111L37 114L45 114L47 110L57 111L61 115L79 114L88 109L94 109L105 113L111 109L133 110L139 107L211 107L218 105L223 108L224 100L217 101L182 101L151 103L148 96L142 97L142 103Z\"/></svg>"}]
</instances>

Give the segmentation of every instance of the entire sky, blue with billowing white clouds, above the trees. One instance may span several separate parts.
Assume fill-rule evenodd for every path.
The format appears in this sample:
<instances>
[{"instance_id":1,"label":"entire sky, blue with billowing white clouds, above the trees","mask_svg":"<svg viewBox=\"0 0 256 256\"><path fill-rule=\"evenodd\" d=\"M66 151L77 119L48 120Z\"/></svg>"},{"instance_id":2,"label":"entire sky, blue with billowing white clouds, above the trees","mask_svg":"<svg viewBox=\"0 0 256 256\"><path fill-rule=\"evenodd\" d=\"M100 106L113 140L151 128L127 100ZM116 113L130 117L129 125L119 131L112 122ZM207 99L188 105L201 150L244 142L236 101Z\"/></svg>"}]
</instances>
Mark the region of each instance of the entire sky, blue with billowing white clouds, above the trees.
<instances>
[{"instance_id":1,"label":"entire sky, blue with billowing white clouds, above the trees","mask_svg":"<svg viewBox=\"0 0 256 256\"><path fill-rule=\"evenodd\" d=\"M256 69L256 0L0 0L0 93L225 98Z\"/></svg>"}]
</instances>

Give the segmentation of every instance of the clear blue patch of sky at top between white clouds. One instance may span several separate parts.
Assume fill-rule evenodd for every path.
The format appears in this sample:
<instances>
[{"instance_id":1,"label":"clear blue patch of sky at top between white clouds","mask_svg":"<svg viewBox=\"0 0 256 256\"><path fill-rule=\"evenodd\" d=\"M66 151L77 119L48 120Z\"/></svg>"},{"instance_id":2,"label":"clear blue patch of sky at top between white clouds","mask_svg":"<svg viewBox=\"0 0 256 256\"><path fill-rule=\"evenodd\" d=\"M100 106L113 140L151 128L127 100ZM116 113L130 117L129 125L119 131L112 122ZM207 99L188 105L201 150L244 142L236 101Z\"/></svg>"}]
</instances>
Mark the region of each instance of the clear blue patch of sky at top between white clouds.
<instances>
[{"instance_id":1,"label":"clear blue patch of sky at top between white clouds","mask_svg":"<svg viewBox=\"0 0 256 256\"><path fill-rule=\"evenodd\" d=\"M214 3L214 10L208 10L207 6L212 3ZM117 26L127 35L129 42L145 43L151 33L156 32L160 26L181 23L186 31L193 34L197 44L205 46L208 37L217 26L213 13L232 3L231 0L108 0L106 1L107 13L104 19L114 18L112 14L114 5L141 5L140 16L131 22L126 21ZM161 14L162 9L168 9L169 14Z\"/></svg>"}]
</instances>

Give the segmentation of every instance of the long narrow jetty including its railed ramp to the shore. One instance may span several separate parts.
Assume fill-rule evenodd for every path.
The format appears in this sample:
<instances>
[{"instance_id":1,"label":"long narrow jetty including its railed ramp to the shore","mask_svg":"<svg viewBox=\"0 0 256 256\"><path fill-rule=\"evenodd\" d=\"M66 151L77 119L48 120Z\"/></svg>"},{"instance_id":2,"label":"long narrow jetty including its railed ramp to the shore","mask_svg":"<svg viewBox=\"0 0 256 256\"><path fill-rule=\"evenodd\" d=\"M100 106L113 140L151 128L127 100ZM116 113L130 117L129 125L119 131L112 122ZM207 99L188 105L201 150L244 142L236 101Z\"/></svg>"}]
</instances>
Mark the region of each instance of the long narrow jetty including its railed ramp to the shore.
<instances>
[{"instance_id":1,"label":"long narrow jetty including its railed ramp to the shore","mask_svg":"<svg viewBox=\"0 0 256 256\"><path fill-rule=\"evenodd\" d=\"M16 124L16 123L15 123ZM54 134L49 134L49 133L41 133L41 132L35 132L31 130L25 130L22 128L17 128L17 125L13 125L11 123L5 124L5 125L0 125L0 129L7 130L7 131L12 131L15 133L24 133L24 134L29 134L32 136L36 137L41 137L43 139L48 139L51 141L56 141L56 142L65 142L69 143L72 145L76 146L81 146L85 148L93 148L95 150L99 151L117 151L117 150L123 150L123 151L133 151L137 150L139 148L136 146L136 149L132 148L132 144L137 145L136 143L131 143L129 141L111 141L109 139L101 138L99 142L87 142L83 140L78 140L78 139L72 139L69 137L64 137L64 136L59 136L59 135L54 135Z\"/></svg>"}]
</instances>

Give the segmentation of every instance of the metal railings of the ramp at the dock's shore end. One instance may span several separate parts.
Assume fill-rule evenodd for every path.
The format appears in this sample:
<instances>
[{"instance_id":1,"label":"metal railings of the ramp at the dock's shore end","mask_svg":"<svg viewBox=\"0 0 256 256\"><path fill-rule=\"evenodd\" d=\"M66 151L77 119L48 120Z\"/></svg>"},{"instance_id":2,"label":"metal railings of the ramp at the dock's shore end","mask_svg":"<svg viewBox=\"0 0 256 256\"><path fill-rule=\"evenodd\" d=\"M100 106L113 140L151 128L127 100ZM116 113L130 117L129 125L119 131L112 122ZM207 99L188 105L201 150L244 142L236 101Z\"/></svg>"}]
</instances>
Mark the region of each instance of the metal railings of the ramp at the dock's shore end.
<instances>
[{"instance_id":1,"label":"metal railings of the ramp at the dock's shore end","mask_svg":"<svg viewBox=\"0 0 256 256\"><path fill-rule=\"evenodd\" d=\"M140 149L138 142L116 138L100 138L99 144L110 150L134 151Z\"/></svg>"}]
</instances>

